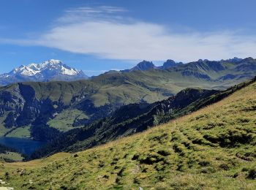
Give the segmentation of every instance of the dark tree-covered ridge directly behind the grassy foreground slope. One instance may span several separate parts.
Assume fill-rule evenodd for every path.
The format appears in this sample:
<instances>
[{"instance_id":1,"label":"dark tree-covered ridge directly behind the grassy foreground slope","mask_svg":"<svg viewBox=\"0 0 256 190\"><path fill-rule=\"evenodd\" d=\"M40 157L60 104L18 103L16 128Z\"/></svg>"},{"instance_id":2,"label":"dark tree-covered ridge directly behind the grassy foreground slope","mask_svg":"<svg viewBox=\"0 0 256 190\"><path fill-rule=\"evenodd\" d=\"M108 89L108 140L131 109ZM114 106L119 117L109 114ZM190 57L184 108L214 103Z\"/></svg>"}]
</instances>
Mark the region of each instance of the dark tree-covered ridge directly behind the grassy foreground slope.
<instances>
[{"instance_id":1,"label":"dark tree-covered ridge directly behind the grassy foreground slope","mask_svg":"<svg viewBox=\"0 0 256 190\"><path fill-rule=\"evenodd\" d=\"M213 94L216 95L211 96ZM213 99L219 94L218 91L214 90L187 88L176 96L171 96L161 102L128 104L116 110L108 118L60 134L59 137L51 140L48 145L35 151L31 159L50 156L61 151L83 151L110 140L143 132L151 126L165 123L192 110L206 106L209 104L208 99ZM80 121L79 124L83 124L83 121Z\"/></svg>"}]
</instances>

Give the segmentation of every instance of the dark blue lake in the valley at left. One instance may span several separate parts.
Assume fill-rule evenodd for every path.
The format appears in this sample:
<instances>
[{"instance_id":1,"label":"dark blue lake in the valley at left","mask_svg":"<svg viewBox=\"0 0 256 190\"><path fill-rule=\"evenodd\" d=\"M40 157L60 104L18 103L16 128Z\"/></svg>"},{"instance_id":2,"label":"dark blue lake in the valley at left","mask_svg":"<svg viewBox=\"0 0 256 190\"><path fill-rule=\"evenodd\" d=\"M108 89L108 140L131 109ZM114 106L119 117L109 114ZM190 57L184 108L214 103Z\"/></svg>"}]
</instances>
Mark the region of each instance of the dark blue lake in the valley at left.
<instances>
[{"instance_id":1,"label":"dark blue lake in the valley at left","mask_svg":"<svg viewBox=\"0 0 256 190\"><path fill-rule=\"evenodd\" d=\"M0 144L15 148L21 153L31 155L35 150L45 145L46 142L17 137L0 137Z\"/></svg>"}]
</instances>

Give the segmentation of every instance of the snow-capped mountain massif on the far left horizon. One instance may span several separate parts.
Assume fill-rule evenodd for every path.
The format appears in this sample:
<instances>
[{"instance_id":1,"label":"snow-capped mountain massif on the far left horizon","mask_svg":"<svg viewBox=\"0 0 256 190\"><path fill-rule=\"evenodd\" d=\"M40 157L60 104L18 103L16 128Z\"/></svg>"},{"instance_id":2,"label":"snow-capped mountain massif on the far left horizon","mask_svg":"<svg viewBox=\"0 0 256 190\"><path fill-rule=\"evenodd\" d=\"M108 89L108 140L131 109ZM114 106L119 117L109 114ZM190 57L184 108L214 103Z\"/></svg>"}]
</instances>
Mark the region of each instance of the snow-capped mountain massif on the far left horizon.
<instances>
[{"instance_id":1,"label":"snow-capped mountain massif on the far left horizon","mask_svg":"<svg viewBox=\"0 0 256 190\"><path fill-rule=\"evenodd\" d=\"M0 75L0 85L26 81L70 81L87 78L83 71L67 66L62 61L50 59L41 64L21 65L9 73Z\"/></svg>"}]
</instances>

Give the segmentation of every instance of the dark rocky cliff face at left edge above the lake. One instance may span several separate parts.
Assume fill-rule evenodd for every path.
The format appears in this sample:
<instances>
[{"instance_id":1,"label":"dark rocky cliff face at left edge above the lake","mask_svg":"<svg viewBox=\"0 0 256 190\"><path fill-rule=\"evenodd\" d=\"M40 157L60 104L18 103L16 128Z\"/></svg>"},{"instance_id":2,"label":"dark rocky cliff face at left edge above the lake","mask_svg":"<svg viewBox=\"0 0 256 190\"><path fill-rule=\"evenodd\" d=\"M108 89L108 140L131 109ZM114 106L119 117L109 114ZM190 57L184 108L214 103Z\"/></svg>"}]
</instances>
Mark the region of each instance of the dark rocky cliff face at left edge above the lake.
<instances>
[{"instance_id":1,"label":"dark rocky cliff face at left edge above the lake","mask_svg":"<svg viewBox=\"0 0 256 190\"><path fill-rule=\"evenodd\" d=\"M61 110L61 102L52 102L50 99L37 99L34 88L18 83L11 91L0 94L1 116L6 114L4 126L7 128L30 125L39 115L49 117ZM54 108L57 104L58 108Z\"/></svg>"}]
</instances>

